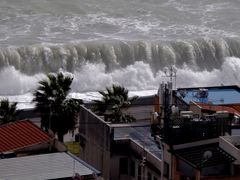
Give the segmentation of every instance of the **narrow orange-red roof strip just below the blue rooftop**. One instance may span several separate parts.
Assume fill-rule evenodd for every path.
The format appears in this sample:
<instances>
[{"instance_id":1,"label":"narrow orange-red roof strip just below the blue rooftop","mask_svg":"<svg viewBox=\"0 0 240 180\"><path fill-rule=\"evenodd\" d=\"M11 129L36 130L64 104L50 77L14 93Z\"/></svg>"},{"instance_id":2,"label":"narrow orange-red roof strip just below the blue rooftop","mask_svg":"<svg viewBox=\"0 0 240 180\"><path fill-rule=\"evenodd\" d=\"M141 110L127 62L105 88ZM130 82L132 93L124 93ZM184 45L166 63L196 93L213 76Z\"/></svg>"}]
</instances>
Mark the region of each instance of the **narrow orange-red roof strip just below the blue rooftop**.
<instances>
[{"instance_id":1,"label":"narrow orange-red roof strip just below the blue rooftop","mask_svg":"<svg viewBox=\"0 0 240 180\"><path fill-rule=\"evenodd\" d=\"M195 102L196 103L196 102ZM240 115L240 112L236 109L228 106L218 106L218 105L211 105L211 104L204 104L204 103L196 103L202 109L211 110L211 111L228 111L230 113Z\"/></svg>"}]
</instances>

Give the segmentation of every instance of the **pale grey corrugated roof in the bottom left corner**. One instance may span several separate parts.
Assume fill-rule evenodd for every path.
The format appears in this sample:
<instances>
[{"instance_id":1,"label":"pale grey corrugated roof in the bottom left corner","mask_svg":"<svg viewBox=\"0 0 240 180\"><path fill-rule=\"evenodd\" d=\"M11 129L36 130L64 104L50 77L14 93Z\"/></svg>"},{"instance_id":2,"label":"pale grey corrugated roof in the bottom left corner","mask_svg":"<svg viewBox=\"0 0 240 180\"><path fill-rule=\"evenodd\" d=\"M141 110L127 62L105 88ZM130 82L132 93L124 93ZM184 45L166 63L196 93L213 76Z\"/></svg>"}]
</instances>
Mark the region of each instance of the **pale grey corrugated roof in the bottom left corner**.
<instances>
[{"instance_id":1,"label":"pale grey corrugated roof in the bottom left corner","mask_svg":"<svg viewBox=\"0 0 240 180\"><path fill-rule=\"evenodd\" d=\"M79 158L65 152L0 160L0 179L59 179L99 174Z\"/></svg>"}]
</instances>

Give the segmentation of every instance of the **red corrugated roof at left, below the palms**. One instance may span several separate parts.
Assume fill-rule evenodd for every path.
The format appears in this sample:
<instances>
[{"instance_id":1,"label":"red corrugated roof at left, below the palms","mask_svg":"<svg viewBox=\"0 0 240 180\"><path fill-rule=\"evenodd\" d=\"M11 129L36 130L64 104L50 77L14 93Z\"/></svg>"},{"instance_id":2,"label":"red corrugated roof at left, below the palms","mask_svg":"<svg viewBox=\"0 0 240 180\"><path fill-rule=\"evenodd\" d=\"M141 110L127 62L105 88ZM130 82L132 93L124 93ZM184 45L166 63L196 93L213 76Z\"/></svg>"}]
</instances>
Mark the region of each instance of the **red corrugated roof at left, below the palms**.
<instances>
[{"instance_id":1,"label":"red corrugated roof at left, below the palms","mask_svg":"<svg viewBox=\"0 0 240 180\"><path fill-rule=\"evenodd\" d=\"M24 120L0 126L0 152L14 151L50 140L50 136Z\"/></svg>"}]
</instances>

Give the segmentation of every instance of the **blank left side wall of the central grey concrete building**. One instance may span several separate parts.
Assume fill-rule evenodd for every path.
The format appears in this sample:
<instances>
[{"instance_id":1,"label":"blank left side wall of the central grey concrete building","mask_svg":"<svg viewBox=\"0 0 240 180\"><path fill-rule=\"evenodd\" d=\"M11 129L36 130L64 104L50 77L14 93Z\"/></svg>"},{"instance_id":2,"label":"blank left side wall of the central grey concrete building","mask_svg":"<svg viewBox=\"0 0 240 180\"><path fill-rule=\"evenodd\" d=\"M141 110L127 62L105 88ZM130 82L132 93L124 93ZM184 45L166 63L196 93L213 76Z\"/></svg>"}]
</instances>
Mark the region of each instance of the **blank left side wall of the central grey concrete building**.
<instances>
[{"instance_id":1,"label":"blank left side wall of the central grey concrete building","mask_svg":"<svg viewBox=\"0 0 240 180\"><path fill-rule=\"evenodd\" d=\"M105 180L110 179L111 128L84 106L80 108L79 120L80 136L85 141L80 147L80 158L101 171Z\"/></svg>"}]
</instances>

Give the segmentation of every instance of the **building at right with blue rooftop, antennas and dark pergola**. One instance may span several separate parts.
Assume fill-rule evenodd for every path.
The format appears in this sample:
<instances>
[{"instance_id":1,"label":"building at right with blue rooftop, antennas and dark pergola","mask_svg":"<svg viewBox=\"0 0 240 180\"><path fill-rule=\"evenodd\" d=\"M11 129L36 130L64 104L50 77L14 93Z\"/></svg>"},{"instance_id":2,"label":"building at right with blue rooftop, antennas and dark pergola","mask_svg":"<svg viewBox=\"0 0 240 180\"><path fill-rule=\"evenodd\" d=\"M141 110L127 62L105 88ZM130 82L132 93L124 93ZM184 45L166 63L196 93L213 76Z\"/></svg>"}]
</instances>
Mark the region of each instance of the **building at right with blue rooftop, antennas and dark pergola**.
<instances>
[{"instance_id":1,"label":"building at right with blue rooftop, antennas and dark pergola","mask_svg":"<svg viewBox=\"0 0 240 180\"><path fill-rule=\"evenodd\" d=\"M163 179L239 179L238 149L229 144L234 141L232 127L239 125L235 121L239 112L233 105L228 106L239 103L239 87L178 90L176 95L190 103L191 111L179 111L172 94L167 85L162 88L162 111L155 124L163 150ZM226 103L224 106L213 101L218 97L224 98L220 101Z\"/></svg>"}]
</instances>

